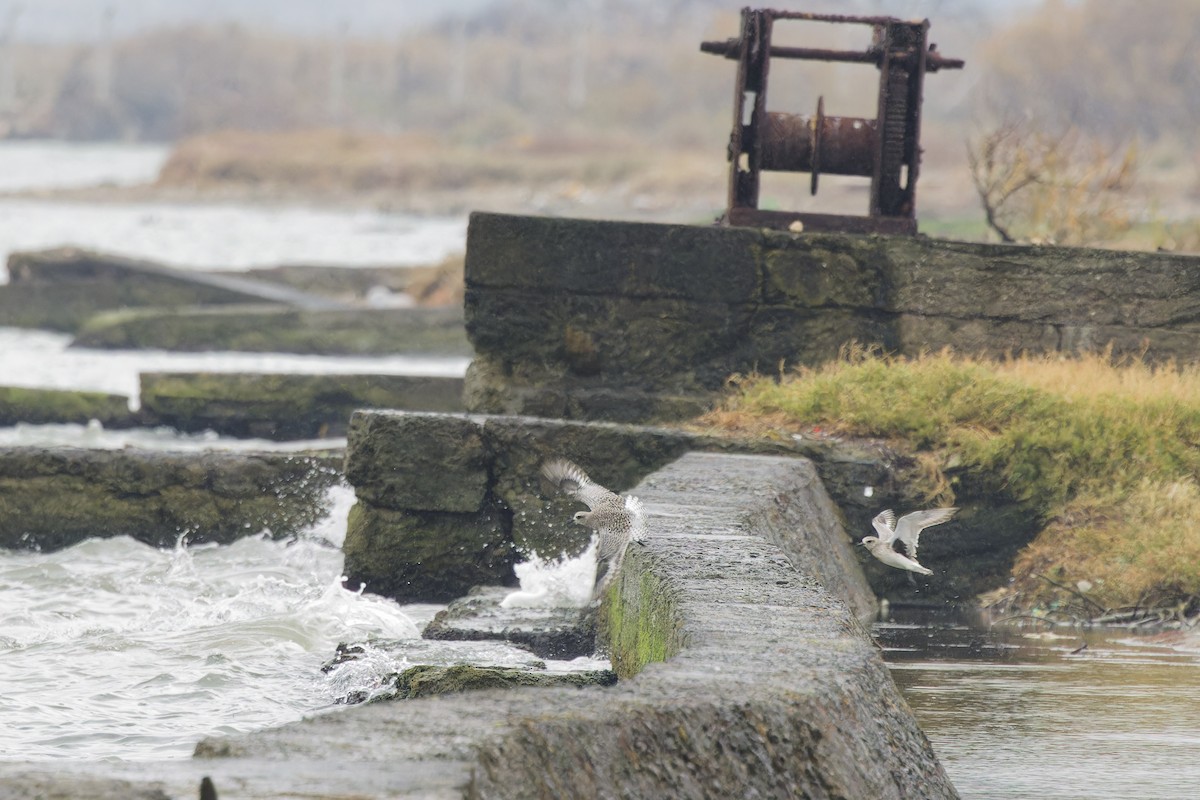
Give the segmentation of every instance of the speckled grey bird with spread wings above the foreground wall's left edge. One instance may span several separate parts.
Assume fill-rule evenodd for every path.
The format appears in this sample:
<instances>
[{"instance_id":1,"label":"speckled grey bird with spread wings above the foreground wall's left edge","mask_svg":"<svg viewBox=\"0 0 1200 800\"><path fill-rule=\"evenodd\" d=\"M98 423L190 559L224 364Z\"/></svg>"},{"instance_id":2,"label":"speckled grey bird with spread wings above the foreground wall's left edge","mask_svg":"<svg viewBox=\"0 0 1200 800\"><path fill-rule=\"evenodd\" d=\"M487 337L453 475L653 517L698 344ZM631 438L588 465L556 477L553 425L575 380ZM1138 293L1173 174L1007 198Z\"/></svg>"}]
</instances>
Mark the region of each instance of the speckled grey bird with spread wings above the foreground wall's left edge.
<instances>
[{"instance_id":1,"label":"speckled grey bird with spread wings above the foreground wall's left edge","mask_svg":"<svg viewBox=\"0 0 1200 800\"><path fill-rule=\"evenodd\" d=\"M610 492L565 458L546 462L541 467L541 474L559 492L570 494L588 506L588 511L577 511L574 519L596 531L600 540L596 546L596 581L592 588L594 602L620 570L625 547L630 542L641 541L646 533L642 501Z\"/></svg>"}]
</instances>

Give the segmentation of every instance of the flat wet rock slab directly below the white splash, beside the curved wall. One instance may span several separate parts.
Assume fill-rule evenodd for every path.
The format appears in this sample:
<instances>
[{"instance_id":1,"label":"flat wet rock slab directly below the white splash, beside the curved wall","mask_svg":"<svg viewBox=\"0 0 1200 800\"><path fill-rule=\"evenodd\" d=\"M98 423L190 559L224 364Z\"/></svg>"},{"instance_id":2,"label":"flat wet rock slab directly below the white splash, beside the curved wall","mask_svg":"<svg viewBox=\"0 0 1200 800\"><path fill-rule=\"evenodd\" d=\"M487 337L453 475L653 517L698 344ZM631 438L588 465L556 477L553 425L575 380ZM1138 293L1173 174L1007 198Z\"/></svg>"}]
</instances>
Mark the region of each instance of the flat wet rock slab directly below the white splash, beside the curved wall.
<instances>
[{"instance_id":1,"label":"flat wet rock slab directly below the white splash, beside the curved wall","mask_svg":"<svg viewBox=\"0 0 1200 800\"><path fill-rule=\"evenodd\" d=\"M425 626L427 639L509 642L542 658L570 661L595 652L594 615L580 608L504 608L511 591L503 587L473 589Z\"/></svg>"}]
</instances>

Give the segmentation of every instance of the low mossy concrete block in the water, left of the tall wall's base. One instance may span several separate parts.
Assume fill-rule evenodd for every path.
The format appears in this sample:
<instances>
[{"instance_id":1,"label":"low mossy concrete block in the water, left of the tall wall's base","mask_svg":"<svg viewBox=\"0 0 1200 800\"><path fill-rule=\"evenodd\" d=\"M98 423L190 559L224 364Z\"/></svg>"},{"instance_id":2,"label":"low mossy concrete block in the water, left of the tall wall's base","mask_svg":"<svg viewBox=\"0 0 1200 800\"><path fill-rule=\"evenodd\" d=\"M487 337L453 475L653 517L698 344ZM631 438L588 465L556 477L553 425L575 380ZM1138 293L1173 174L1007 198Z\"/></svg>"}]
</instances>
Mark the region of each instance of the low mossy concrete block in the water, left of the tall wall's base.
<instances>
[{"instance_id":1,"label":"low mossy concrete block in the water, left of the tall wall's base","mask_svg":"<svg viewBox=\"0 0 1200 800\"><path fill-rule=\"evenodd\" d=\"M462 379L424 375L142 373L143 425L230 437L344 437L355 409L462 410Z\"/></svg>"}]
</instances>

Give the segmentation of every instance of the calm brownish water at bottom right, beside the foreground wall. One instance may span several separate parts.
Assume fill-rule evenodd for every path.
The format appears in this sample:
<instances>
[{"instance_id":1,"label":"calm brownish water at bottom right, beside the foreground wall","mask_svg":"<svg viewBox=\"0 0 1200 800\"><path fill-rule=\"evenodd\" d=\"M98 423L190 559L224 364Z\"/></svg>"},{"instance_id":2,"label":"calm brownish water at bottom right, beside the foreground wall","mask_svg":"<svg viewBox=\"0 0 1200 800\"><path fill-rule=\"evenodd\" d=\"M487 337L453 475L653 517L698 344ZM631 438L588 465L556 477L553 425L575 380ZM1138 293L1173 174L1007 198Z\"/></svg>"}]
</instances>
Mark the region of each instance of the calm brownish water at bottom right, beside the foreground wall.
<instances>
[{"instance_id":1,"label":"calm brownish water at bottom right, beside the foreground wall","mask_svg":"<svg viewBox=\"0 0 1200 800\"><path fill-rule=\"evenodd\" d=\"M876 636L965 800L1200 796L1200 631L914 618Z\"/></svg>"}]
</instances>

